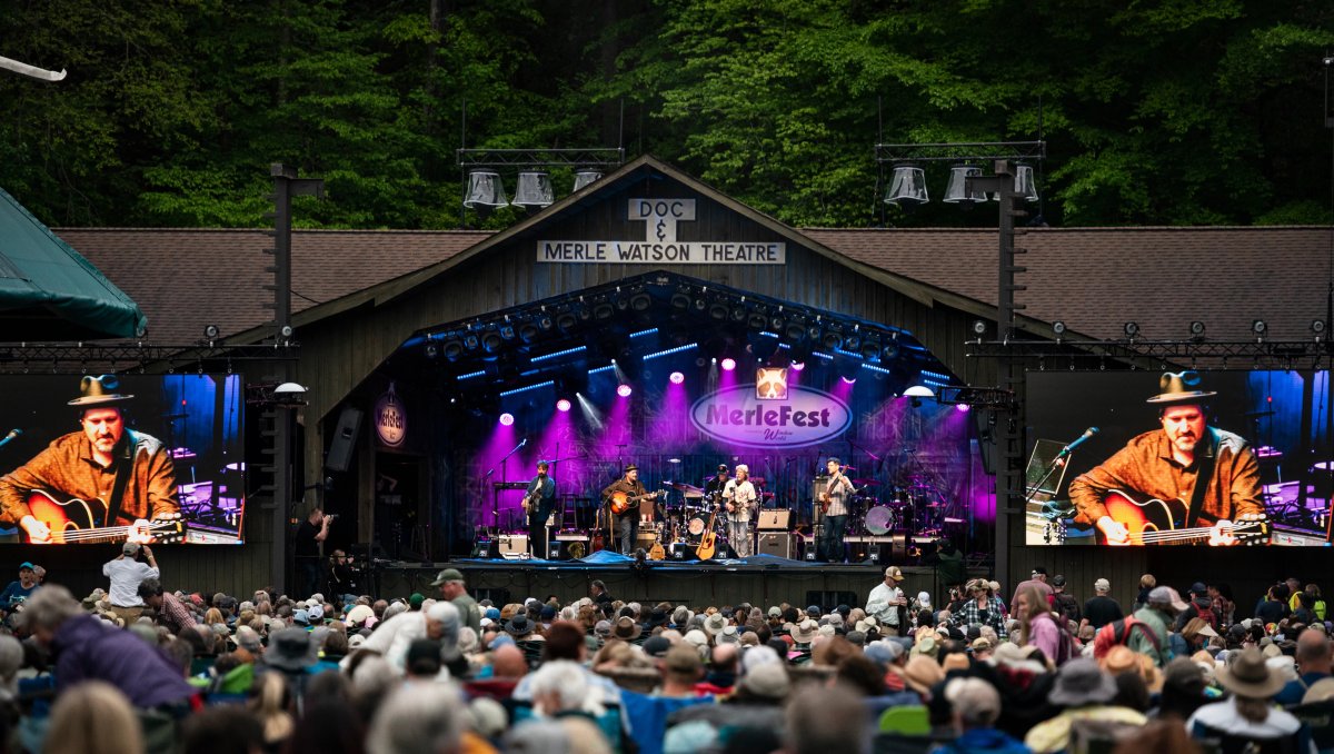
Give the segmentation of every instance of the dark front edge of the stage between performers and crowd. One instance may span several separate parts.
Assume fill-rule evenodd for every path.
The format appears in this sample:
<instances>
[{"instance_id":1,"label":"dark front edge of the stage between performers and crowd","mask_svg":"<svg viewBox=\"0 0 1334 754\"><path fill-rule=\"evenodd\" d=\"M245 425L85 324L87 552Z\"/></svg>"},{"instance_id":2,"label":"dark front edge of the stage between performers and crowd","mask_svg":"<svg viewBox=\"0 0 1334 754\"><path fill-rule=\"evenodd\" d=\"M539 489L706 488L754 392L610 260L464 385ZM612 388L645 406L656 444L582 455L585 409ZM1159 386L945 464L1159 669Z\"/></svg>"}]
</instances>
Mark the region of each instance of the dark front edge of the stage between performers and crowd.
<instances>
[{"instance_id":1,"label":"dark front edge of the stage between performers and crowd","mask_svg":"<svg viewBox=\"0 0 1334 754\"><path fill-rule=\"evenodd\" d=\"M750 602L768 607L788 602L798 606L863 606L866 595L880 583L890 563L814 563L772 555L728 560L644 560L636 563L615 552L600 551L579 560L463 559L450 563L392 563L379 571L379 594L408 597L414 591L436 593L431 586L440 569L459 569L468 593L490 598L498 606L528 597L555 595L568 603L588 595L588 585L602 581L616 599L671 602L691 607L722 607ZM903 590L911 595L939 595L935 569L902 566ZM979 570L978 575L984 575Z\"/></svg>"}]
</instances>

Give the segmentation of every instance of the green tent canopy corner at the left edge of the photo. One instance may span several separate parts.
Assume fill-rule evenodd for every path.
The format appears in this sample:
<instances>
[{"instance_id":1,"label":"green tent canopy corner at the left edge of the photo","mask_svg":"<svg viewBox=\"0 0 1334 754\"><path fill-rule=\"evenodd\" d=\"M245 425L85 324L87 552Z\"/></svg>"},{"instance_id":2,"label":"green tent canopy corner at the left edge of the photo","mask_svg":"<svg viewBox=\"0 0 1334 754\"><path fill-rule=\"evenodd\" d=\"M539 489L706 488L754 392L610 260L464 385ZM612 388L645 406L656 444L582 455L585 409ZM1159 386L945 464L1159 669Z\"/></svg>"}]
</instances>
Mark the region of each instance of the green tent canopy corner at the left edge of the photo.
<instances>
[{"instance_id":1,"label":"green tent canopy corner at the left edge of the photo","mask_svg":"<svg viewBox=\"0 0 1334 754\"><path fill-rule=\"evenodd\" d=\"M0 190L0 340L143 338L148 318Z\"/></svg>"}]
</instances>

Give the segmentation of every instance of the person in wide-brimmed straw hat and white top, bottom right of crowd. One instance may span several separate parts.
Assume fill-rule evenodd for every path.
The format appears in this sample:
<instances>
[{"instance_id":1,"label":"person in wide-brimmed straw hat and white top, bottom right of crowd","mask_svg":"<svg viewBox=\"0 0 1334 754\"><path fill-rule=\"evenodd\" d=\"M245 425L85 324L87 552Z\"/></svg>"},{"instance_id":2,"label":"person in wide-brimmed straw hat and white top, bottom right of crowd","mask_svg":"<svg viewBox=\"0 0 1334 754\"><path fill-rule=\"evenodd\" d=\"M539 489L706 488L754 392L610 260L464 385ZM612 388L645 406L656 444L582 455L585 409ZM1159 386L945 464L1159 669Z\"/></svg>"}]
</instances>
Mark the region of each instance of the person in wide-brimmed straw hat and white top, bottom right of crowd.
<instances>
[{"instance_id":1,"label":"person in wide-brimmed straw hat and white top, bottom right of crowd","mask_svg":"<svg viewBox=\"0 0 1334 754\"><path fill-rule=\"evenodd\" d=\"M1197 739L1235 737L1253 742L1297 735L1294 751L1311 751L1310 730L1291 713L1273 705L1274 695L1286 681L1265 665L1265 655L1255 647L1237 654L1237 659L1214 674L1231 697L1205 705L1186 721L1186 730Z\"/></svg>"}]
</instances>

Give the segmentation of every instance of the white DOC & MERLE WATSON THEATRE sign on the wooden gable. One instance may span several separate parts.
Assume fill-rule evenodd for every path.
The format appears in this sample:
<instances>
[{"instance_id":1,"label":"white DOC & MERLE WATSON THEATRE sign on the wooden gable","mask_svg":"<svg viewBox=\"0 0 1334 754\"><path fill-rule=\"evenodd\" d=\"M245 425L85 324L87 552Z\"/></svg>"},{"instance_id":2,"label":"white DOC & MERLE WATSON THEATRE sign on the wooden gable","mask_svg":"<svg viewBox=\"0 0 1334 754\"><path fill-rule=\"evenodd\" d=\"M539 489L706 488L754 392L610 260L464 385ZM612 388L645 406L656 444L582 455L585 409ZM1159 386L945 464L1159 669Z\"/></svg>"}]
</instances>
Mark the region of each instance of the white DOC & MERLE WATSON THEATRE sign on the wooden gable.
<instances>
[{"instance_id":1,"label":"white DOC & MERLE WATSON THEATRE sign on the wooden gable","mask_svg":"<svg viewBox=\"0 0 1334 754\"><path fill-rule=\"evenodd\" d=\"M680 242L676 223L695 220L694 199L631 199L628 220L643 240L539 240L538 262L574 264L786 264L782 242Z\"/></svg>"}]
</instances>

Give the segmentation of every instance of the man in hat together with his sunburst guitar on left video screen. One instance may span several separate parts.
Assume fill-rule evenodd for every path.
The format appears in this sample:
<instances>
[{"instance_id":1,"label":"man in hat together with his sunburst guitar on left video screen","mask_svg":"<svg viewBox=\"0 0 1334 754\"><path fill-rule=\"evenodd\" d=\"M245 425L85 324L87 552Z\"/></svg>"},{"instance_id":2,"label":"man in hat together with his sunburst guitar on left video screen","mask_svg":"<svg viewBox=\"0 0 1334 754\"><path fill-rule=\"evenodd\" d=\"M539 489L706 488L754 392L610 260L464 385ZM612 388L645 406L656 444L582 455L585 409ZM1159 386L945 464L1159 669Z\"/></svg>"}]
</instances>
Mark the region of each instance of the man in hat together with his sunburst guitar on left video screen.
<instances>
[{"instance_id":1,"label":"man in hat together with his sunburst guitar on left video screen","mask_svg":"<svg viewBox=\"0 0 1334 754\"><path fill-rule=\"evenodd\" d=\"M157 540L149 519L177 520L171 451L125 427L115 375L84 376L75 407L79 431L56 438L28 463L0 476L0 523L32 543Z\"/></svg>"}]
</instances>

